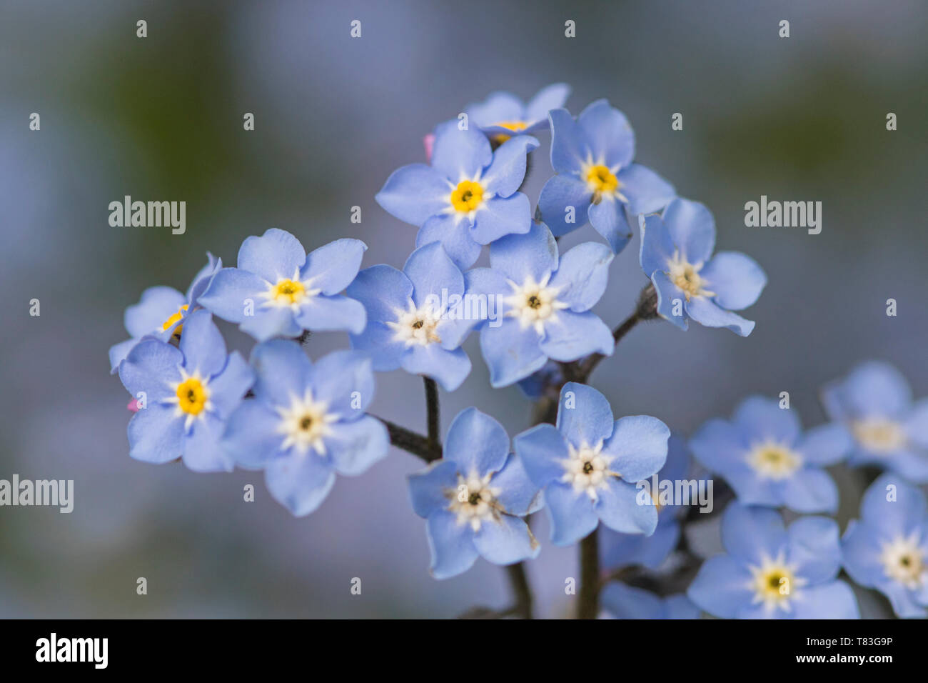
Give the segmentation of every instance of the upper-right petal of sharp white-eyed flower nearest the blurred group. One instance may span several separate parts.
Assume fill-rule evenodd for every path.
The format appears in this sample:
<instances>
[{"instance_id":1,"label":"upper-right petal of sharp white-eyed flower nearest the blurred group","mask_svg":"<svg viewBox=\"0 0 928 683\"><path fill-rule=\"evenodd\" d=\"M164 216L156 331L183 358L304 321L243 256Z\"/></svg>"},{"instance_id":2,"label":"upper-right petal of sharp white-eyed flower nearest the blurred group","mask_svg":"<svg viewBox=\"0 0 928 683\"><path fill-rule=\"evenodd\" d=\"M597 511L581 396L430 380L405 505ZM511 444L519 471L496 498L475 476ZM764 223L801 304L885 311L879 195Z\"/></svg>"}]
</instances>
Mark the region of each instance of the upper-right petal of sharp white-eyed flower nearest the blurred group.
<instances>
[{"instance_id":1,"label":"upper-right petal of sharp white-eyed flower nearest the blurred group","mask_svg":"<svg viewBox=\"0 0 928 683\"><path fill-rule=\"evenodd\" d=\"M651 477L664 466L668 439L670 429L656 417L621 417L615 421L612 436L603 446L603 453L615 457L610 463L610 469L634 484Z\"/></svg>"}]
</instances>

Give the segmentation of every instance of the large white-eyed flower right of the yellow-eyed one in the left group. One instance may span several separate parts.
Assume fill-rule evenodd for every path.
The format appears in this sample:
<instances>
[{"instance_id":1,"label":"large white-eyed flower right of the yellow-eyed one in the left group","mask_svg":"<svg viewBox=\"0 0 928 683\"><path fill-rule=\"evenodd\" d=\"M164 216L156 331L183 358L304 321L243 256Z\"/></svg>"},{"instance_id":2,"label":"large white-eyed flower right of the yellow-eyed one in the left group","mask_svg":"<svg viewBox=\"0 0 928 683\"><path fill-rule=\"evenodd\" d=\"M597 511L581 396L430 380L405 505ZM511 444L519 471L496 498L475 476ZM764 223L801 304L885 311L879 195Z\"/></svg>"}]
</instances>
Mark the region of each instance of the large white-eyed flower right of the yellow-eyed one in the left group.
<instances>
[{"instance_id":1,"label":"large white-eyed flower right of the yellow-eyed one in the left group","mask_svg":"<svg viewBox=\"0 0 928 683\"><path fill-rule=\"evenodd\" d=\"M313 363L290 339L251 351L254 399L229 417L226 448L235 462L264 468L271 495L293 515L316 509L336 472L354 476L386 456L386 427L365 413L374 396L370 359L334 351Z\"/></svg>"}]
</instances>

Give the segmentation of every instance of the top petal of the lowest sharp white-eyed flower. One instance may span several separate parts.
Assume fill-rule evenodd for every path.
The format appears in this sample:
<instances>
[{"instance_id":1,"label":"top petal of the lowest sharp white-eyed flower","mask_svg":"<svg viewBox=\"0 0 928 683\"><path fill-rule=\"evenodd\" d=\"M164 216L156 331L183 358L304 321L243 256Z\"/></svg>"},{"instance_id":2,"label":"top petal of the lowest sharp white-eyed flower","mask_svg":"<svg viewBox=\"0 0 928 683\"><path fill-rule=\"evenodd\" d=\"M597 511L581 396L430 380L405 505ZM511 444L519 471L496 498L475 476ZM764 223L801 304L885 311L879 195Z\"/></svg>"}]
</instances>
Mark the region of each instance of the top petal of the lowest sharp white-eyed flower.
<instances>
[{"instance_id":1,"label":"top petal of the lowest sharp white-eyed flower","mask_svg":"<svg viewBox=\"0 0 928 683\"><path fill-rule=\"evenodd\" d=\"M466 408L448 427L445 459L458 464L465 477L485 477L498 472L509 456L509 435L488 414L476 408Z\"/></svg>"}]
</instances>

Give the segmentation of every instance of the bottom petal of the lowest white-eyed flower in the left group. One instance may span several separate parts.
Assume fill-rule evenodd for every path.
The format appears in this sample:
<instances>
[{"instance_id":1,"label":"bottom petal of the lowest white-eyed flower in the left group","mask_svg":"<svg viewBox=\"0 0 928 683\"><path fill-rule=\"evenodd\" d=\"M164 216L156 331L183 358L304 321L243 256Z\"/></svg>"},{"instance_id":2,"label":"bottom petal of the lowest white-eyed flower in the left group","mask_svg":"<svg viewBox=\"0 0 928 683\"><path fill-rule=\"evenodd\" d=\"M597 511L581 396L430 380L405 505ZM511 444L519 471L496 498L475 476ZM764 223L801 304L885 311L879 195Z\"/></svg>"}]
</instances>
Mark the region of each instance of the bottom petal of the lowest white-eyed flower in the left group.
<instances>
[{"instance_id":1,"label":"bottom petal of the lowest white-eyed flower in the left group","mask_svg":"<svg viewBox=\"0 0 928 683\"><path fill-rule=\"evenodd\" d=\"M269 461L264 481L277 503L294 517L304 517L322 505L335 483L335 473L315 452L293 452Z\"/></svg>"}]
</instances>

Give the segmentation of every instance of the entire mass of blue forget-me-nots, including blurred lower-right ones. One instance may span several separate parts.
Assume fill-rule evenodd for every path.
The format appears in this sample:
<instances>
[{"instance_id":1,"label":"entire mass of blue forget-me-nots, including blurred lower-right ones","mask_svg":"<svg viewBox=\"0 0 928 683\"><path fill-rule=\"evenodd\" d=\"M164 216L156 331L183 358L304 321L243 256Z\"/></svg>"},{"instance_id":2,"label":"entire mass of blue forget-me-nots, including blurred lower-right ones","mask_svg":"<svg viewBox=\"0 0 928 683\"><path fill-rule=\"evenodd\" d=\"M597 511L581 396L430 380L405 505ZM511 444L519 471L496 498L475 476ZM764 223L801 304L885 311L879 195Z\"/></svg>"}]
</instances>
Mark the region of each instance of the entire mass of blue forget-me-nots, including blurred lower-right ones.
<instances>
[{"instance_id":1,"label":"entire mass of blue forget-me-nots, including blurred lower-right ones","mask_svg":"<svg viewBox=\"0 0 928 683\"><path fill-rule=\"evenodd\" d=\"M597 584L581 587L581 616L601 607L619 618L856 617L853 592L836 579L842 565L900 615L923 613L928 519L923 495L902 479L928 481L928 403L914 403L894 369L869 363L829 385L829 424L804 432L788 401L752 397L689 442L656 417L616 419L586 384L640 321L750 335L754 322L733 311L754 304L767 276L749 256L714 255L712 214L634 163L622 112L602 99L574 117L563 108L569 92L550 85L527 104L495 93L435 127L427 163L387 178L377 202L418 230L403 269L362 269L367 246L355 239L307 253L271 229L241 244L235 268L209 256L186 294L146 290L125 311L130 338L110 348L135 412L130 455L204 472L264 470L269 492L303 516L336 474L366 472L393 445L426 461L408 485L435 578L481 557L524 583L521 563L541 551L529 518L544 508L550 542L579 543L581 573ZM533 210L522 187L548 132L552 175ZM605 242L561 253L561 236L586 223ZM612 331L594 309L636 226L644 289ZM484 246L489 265L475 267ZM254 339L248 361L226 351L215 319ZM326 332L346 334L349 348L311 360L308 333ZM470 333L491 385L518 384L535 399L535 424L510 440L467 408L443 445L437 385L455 391L469 376ZM367 413L376 373L398 369L424 377L427 435ZM887 474L844 540L823 517L785 527L777 508L835 511L825 467L845 460ZM700 562L682 529L697 503L711 512L713 474L736 497L721 522L726 553L675 584ZM681 562L692 571L677 571ZM600 602L602 578L614 581ZM529 616L530 600L507 613Z\"/></svg>"}]
</instances>

